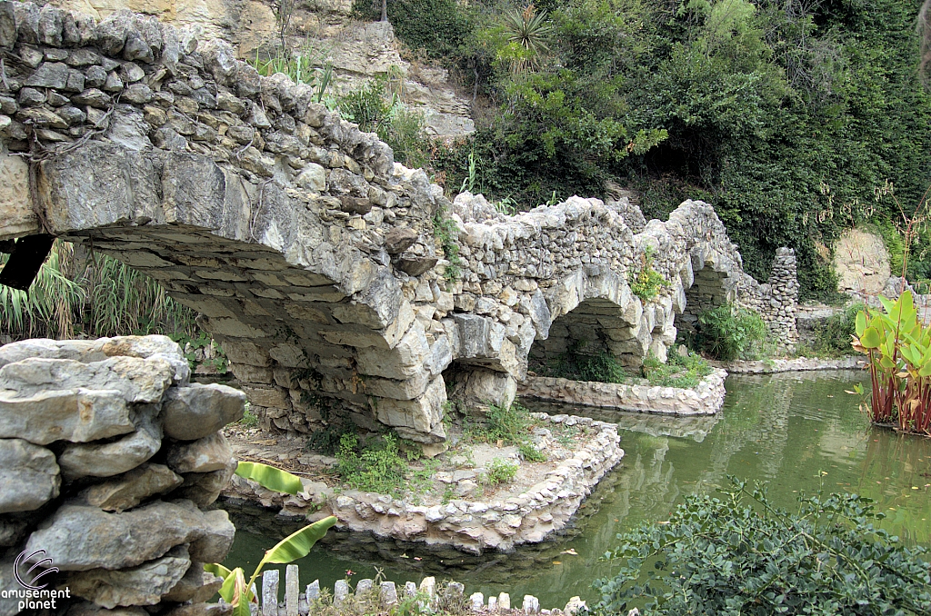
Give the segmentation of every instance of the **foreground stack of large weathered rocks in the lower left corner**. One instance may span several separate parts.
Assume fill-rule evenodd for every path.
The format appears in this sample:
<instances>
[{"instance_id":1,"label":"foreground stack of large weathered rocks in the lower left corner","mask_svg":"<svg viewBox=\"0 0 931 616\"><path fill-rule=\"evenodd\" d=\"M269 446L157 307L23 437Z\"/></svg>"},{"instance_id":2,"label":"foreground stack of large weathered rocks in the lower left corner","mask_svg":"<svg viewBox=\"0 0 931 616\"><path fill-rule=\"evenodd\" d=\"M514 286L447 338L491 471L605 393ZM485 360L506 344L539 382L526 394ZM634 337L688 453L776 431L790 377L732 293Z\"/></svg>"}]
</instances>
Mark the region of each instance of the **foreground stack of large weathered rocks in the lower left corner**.
<instances>
[{"instance_id":1,"label":"foreground stack of large weathered rocks in the lower left corner","mask_svg":"<svg viewBox=\"0 0 931 616\"><path fill-rule=\"evenodd\" d=\"M220 583L202 563L223 560L235 529L200 508L236 470L218 430L246 399L189 374L164 336L0 347L0 588L19 588L20 551L46 550L61 569L49 588L74 596L69 613L202 613L194 604ZM0 601L0 614L17 611Z\"/></svg>"}]
</instances>

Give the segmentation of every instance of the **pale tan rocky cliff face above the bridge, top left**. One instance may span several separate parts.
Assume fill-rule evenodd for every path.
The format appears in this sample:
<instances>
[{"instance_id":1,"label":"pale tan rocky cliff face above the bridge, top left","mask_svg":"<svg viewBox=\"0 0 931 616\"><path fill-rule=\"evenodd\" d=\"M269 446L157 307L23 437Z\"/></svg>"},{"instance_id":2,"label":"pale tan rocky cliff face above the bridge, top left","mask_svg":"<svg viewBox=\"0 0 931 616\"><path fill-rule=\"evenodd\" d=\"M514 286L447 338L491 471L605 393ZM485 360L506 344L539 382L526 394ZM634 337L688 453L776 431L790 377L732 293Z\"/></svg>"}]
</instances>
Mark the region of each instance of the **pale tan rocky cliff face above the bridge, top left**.
<instances>
[{"instance_id":1,"label":"pale tan rocky cliff face above the bridge, top left","mask_svg":"<svg viewBox=\"0 0 931 616\"><path fill-rule=\"evenodd\" d=\"M42 3L40 3L42 4ZM101 20L120 9L151 15L202 38L222 38L237 57L254 60L279 45L280 21L270 0L53 0L57 7ZM470 105L458 97L441 68L403 60L394 29L386 22L352 17L352 0L295 2L287 44L312 49L332 64L335 94L363 87L389 70L401 75L403 99L424 114L428 134L455 138L475 130Z\"/></svg>"}]
</instances>

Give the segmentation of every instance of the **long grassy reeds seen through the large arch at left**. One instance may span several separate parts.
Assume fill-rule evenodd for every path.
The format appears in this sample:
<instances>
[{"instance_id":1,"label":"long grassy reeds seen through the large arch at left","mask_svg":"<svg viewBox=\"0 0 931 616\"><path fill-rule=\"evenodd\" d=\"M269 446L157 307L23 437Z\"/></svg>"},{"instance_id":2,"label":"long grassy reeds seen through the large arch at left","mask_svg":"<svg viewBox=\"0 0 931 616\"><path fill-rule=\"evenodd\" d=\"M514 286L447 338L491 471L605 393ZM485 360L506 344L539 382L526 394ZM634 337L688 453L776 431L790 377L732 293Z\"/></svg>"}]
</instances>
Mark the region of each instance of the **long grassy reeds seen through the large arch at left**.
<instances>
[{"instance_id":1,"label":"long grassy reeds seen through the large arch at left","mask_svg":"<svg viewBox=\"0 0 931 616\"><path fill-rule=\"evenodd\" d=\"M7 255L0 255L0 266ZM0 332L13 339L161 333L197 337L195 313L153 278L91 252L79 269L74 247L57 240L28 293L0 288Z\"/></svg>"}]
</instances>

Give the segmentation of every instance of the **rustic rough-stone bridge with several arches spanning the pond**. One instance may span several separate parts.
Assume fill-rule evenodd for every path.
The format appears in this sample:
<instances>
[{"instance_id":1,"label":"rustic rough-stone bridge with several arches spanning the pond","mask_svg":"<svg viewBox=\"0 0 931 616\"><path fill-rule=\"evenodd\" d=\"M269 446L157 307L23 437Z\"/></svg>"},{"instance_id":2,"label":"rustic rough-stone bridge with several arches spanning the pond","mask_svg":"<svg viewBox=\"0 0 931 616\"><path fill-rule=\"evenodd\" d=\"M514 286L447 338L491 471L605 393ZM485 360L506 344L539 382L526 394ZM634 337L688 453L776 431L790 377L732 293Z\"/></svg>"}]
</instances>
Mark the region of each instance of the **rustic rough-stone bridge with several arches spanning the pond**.
<instances>
[{"instance_id":1,"label":"rustic rough-stone bridge with several arches spanning the pond","mask_svg":"<svg viewBox=\"0 0 931 616\"><path fill-rule=\"evenodd\" d=\"M573 197L515 217L422 170L282 74L152 18L0 1L0 240L50 234L153 276L201 314L268 427L337 411L442 448L447 387L508 403L573 339L639 365L723 301L793 341L794 257L744 274L712 208L668 221ZM450 261L435 219L458 228ZM646 247L670 283L627 284Z\"/></svg>"}]
</instances>

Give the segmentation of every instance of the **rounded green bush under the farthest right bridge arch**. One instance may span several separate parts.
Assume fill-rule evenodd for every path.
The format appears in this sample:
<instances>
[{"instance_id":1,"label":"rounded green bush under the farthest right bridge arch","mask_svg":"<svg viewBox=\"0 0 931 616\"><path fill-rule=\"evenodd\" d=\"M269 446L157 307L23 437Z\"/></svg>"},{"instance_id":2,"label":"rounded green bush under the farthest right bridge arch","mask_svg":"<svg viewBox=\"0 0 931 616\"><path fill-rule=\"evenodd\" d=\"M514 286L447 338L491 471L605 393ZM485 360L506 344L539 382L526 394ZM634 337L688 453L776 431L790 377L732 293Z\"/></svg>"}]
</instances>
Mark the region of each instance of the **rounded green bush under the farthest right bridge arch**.
<instances>
[{"instance_id":1,"label":"rounded green bush under the farthest right bridge arch","mask_svg":"<svg viewBox=\"0 0 931 616\"><path fill-rule=\"evenodd\" d=\"M698 316L695 344L716 359L759 359L769 336L762 316L747 308L724 304Z\"/></svg>"}]
</instances>

